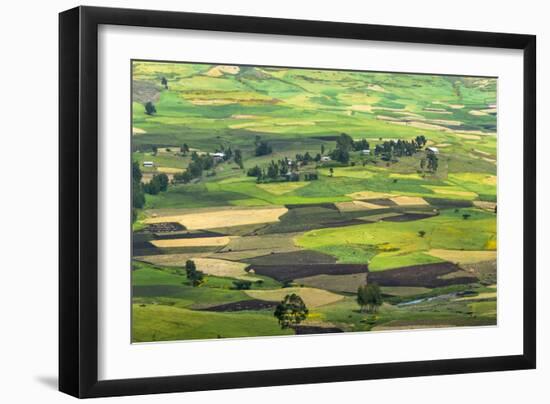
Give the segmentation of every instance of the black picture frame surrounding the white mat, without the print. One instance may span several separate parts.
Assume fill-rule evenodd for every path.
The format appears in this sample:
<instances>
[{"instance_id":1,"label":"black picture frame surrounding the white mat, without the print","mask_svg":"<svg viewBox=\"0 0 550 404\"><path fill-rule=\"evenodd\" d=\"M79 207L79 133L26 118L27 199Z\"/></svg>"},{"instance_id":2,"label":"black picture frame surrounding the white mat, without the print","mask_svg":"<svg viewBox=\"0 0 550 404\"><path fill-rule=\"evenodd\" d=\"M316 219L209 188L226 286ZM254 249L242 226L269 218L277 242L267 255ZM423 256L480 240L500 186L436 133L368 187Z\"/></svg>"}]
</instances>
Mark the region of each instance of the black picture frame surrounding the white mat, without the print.
<instances>
[{"instance_id":1,"label":"black picture frame surrounding the white mat, without the print","mask_svg":"<svg viewBox=\"0 0 550 404\"><path fill-rule=\"evenodd\" d=\"M97 63L100 24L523 50L523 353L468 359L99 381ZM59 98L60 391L86 398L535 368L535 36L77 7L59 15Z\"/></svg>"}]
</instances>

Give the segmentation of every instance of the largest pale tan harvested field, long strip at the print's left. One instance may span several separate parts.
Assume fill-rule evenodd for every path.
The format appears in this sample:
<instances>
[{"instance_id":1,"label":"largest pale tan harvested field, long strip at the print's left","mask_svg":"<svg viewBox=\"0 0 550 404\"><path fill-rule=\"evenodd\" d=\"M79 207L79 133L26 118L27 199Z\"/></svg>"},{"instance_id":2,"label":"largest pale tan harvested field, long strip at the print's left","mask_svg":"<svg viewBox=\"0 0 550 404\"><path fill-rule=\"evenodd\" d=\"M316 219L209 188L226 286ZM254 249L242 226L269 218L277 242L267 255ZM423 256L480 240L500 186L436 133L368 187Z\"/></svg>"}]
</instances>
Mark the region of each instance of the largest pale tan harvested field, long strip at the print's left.
<instances>
[{"instance_id":1,"label":"largest pale tan harvested field, long strip at the print's left","mask_svg":"<svg viewBox=\"0 0 550 404\"><path fill-rule=\"evenodd\" d=\"M277 222L279 217L288 211L287 208L257 209L220 209L204 213L189 213L177 216L151 217L145 223L177 222L189 230L215 229L244 224Z\"/></svg>"}]
</instances>

